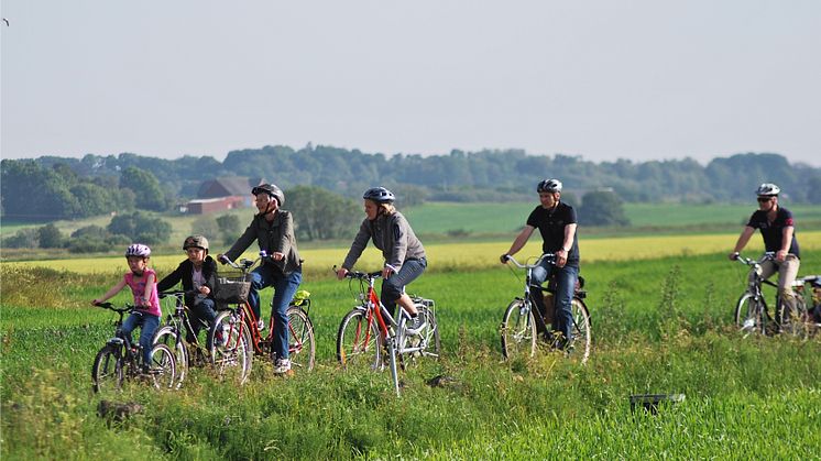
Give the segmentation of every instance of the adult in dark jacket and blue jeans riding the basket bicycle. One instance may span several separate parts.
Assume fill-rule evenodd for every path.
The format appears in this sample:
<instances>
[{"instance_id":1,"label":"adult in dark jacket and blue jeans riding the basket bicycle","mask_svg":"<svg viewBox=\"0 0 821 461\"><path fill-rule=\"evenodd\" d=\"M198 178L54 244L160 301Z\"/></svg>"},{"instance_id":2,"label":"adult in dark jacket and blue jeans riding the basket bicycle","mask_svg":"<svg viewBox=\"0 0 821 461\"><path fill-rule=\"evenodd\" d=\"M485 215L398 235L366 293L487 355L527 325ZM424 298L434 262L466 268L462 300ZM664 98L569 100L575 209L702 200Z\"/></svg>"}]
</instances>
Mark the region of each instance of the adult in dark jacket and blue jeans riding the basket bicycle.
<instances>
[{"instance_id":1,"label":"adult in dark jacket and blue jeans riding the basket bicycle","mask_svg":"<svg viewBox=\"0 0 821 461\"><path fill-rule=\"evenodd\" d=\"M260 293L266 287L274 287L274 299L271 306L271 316L274 317L274 344L276 353L274 373L287 373L291 370L288 355L288 317L287 309L294 299L294 294L303 281L303 266L299 252L296 249L296 237L294 237L294 218L289 211L283 210L285 194L273 184L263 184L251 190L256 199L254 219L245 232L226 252L231 261L239 257L248 250L254 240L264 250L267 256L262 264L252 273L251 290L248 301L259 320L260 329L265 328L265 321L261 317ZM222 254L218 256L221 260Z\"/></svg>"}]
</instances>

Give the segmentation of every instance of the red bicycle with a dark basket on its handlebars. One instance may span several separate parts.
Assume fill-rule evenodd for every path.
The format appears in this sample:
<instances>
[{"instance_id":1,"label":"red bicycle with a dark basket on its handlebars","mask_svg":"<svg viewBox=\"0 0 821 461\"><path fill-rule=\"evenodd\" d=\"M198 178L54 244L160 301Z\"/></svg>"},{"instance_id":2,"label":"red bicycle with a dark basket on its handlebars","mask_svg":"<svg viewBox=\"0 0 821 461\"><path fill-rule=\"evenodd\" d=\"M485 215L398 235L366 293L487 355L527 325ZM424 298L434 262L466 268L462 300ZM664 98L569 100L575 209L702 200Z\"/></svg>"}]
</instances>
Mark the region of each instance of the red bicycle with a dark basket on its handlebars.
<instances>
[{"instance_id":1,"label":"red bicycle with a dark basket on its handlebars","mask_svg":"<svg viewBox=\"0 0 821 461\"><path fill-rule=\"evenodd\" d=\"M234 263L225 255L220 260L223 264L239 270L240 275L238 277L218 276L217 278L215 298L220 312L217 314L208 333L208 350L218 374L221 376L233 374L240 384L245 383L250 376L254 354L260 356L273 354L274 318L271 317L267 336L263 337L258 327L256 316L247 299L251 286L251 267L265 257L267 254L263 250L254 261L241 259L239 263ZM297 292L286 310L292 370L314 370L316 342L314 323L308 315L309 296L310 294L304 289Z\"/></svg>"}]
</instances>

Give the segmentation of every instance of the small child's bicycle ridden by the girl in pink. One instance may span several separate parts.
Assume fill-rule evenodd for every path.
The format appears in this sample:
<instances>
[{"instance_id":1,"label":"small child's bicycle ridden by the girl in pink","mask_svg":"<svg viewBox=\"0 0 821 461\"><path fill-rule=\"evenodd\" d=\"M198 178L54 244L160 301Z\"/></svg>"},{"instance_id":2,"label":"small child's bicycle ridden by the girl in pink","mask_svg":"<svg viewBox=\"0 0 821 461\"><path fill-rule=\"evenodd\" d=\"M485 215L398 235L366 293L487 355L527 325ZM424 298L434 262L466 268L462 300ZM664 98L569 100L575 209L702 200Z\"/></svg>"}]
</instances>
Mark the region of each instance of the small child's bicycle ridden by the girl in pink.
<instances>
[{"instance_id":1,"label":"small child's bicycle ridden by the girl in pink","mask_svg":"<svg viewBox=\"0 0 821 461\"><path fill-rule=\"evenodd\" d=\"M97 306L113 310L119 315L114 321L114 337L97 352L91 365L91 382L94 392L120 389L124 380L144 378L158 389L173 388L176 382L176 359L165 344L155 344L151 349L151 363L143 363L142 347L132 344L131 339L122 333L122 316L134 310L134 306L125 304L116 307L111 303L100 303Z\"/></svg>"}]
</instances>

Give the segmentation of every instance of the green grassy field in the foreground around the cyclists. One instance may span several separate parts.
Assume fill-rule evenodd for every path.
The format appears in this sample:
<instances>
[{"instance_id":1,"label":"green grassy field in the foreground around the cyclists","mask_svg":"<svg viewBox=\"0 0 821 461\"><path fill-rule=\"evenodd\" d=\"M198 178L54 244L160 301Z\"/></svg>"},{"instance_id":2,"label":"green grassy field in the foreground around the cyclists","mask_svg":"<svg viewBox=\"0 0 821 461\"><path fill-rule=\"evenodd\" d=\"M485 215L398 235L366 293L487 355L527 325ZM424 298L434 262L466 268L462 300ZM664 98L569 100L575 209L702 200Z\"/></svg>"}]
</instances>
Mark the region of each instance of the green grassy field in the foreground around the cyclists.
<instances>
[{"instance_id":1,"label":"green grassy field in the foreground around the cyclists","mask_svg":"<svg viewBox=\"0 0 821 461\"><path fill-rule=\"evenodd\" d=\"M497 253L442 248L437 257L485 250ZM736 333L732 306L746 272L724 253L585 262L594 336L587 365L549 351L502 362L499 322L522 292L521 274L483 257L431 270L412 292L437 300L444 355L404 373L398 399L390 374L336 365L336 330L354 299L347 283L317 276L304 286L314 299L315 372L273 378L258 360L241 388L207 369L177 392L130 386L114 398L144 409L122 422L96 415L89 369L111 316L88 306L122 268L2 264L0 457L817 459L821 340ZM819 267L821 253L807 251L802 273ZM450 384L427 384L440 374ZM633 411L630 395L645 393L686 400L655 416Z\"/></svg>"}]
</instances>

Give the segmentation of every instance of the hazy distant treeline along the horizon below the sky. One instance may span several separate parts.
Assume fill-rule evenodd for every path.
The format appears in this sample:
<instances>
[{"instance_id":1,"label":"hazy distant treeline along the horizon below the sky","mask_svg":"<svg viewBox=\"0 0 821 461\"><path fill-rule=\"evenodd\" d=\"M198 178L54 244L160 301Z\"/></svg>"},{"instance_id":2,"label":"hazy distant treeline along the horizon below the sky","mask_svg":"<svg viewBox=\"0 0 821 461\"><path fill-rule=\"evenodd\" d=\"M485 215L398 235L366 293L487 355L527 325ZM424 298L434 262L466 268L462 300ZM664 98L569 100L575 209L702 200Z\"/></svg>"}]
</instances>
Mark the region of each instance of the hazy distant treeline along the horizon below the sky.
<instances>
[{"instance_id":1,"label":"hazy distant treeline along the horizon below the sky","mask_svg":"<svg viewBox=\"0 0 821 461\"><path fill-rule=\"evenodd\" d=\"M149 173L149 177L143 173ZM232 151L223 162L209 156L163 160L129 153L89 154L81 160L3 160L2 208L4 215L19 217L25 209L36 207L33 202L47 200L45 194L52 193L63 198L77 196L74 201L67 200L67 206L73 202L79 210L98 204L94 196L103 190L107 200L134 200L138 208L162 210L195 198L204 180L221 176L262 177L284 189L316 186L349 198L358 198L368 187L383 185L404 196L403 205L426 199L529 200L538 180L547 177L560 178L566 191L578 197L605 189L630 202L748 202L758 184L771 182L781 187L789 201L821 204L821 168L791 165L778 154L736 154L702 166L692 158L594 163L561 154L528 155L521 150L387 156L307 145L298 151L287 146ZM113 197L129 189L129 182L134 195L127 191L127 197ZM157 187L162 199L155 197ZM21 194L26 204L10 206L8 200ZM147 198L151 206L140 207L140 201ZM75 215L66 211L58 215Z\"/></svg>"}]
</instances>

